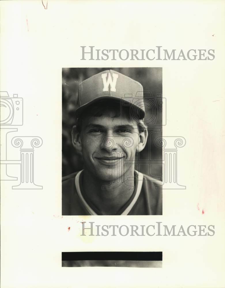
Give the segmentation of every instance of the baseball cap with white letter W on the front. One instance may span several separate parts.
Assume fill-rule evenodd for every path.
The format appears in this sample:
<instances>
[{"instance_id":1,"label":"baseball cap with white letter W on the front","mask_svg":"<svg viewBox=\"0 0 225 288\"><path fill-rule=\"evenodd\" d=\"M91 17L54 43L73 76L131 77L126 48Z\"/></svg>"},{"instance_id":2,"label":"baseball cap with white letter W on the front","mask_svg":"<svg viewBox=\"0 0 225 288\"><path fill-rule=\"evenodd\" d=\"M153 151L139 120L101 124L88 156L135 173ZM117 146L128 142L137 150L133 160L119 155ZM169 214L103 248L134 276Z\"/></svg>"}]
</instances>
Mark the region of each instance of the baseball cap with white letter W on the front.
<instances>
[{"instance_id":1,"label":"baseball cap with white letter W on the front","mask_svg":"<svg viewBox=\"0 0 225 288\"><path fill-rule=\"evenodd\" d=\"M142 85L114 70L105 70L84 80L78 88L76 118L91 104L103 99L122 101L130 105L132 116L143 119L145 107Z\"/></svg>"}]
</instances>

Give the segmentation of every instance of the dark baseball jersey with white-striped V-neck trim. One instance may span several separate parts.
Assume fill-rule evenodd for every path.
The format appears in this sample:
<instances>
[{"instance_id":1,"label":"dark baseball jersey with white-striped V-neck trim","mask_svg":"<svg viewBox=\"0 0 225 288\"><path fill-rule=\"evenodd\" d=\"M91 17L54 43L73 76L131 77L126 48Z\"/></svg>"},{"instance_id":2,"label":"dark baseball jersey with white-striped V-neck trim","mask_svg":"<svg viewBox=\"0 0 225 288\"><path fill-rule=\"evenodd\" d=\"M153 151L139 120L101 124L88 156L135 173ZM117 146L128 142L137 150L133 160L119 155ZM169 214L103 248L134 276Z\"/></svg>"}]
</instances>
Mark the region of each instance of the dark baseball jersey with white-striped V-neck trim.
<instances>
[{"instance_id":1,"label":"dark baseball jersey with white-striped V-neck trim","mask_svg":"<svg viewBox=\"0 0 225 288\"><path fill-rule=\"evenodd\" d=\"M134 191L116 215L162 215L162 182L135 170ZM102 215L83 190L83 170L62 179L62 215Z\"/></svg>"}]
</instances>

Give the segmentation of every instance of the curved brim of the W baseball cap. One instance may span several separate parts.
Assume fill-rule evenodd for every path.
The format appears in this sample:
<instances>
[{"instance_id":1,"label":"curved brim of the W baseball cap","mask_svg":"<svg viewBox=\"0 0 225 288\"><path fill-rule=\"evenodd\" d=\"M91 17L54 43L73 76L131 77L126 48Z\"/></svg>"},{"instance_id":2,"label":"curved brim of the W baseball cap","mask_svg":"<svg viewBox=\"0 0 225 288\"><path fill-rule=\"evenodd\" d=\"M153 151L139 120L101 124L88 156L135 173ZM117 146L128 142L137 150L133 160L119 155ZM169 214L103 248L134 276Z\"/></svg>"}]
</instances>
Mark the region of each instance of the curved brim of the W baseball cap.
<instances>
[{"instance_id":1,"label":"curved brim of the W baseball cap","mask_svg":"<svg viewBox=\"0 0 225 288\"><path fill-rule=\"evenodd\" d=\"M135 117L139 118L140 120L144 119L144 117L145 117L145 111L141 107L131 103L130 101L126 101L124 99L121 99L121 98L118 98L118 97L113 97L113 96L108 96L108 95L107 96L97 97L97 98L93 99L92 101L90 101L90 102L78 107L76 109L76 111L75 111L75 117L79 118L80 115L84 112L84 110L88 106L90 106L90 105L92 105L92 104L94 104L94 103L96 103L96 102L98 102L100 100L103 100L103 99L107 99L107 100L111 100L112 99L112 100L115 100L118 103L120 103L122 101L124 104L131 105L131 107L132 106L135 107Z\"/></svg>"}]
</instances>

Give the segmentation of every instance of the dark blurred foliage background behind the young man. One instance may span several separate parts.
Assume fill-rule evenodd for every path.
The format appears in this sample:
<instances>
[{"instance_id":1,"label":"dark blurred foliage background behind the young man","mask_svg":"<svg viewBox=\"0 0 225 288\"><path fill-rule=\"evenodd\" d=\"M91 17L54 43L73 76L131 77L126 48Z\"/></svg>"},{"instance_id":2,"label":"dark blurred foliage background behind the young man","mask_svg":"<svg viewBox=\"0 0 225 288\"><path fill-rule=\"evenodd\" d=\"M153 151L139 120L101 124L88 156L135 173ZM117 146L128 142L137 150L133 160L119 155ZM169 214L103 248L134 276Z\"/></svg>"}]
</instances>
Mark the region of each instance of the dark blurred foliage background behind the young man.
<instances>
[{"instance_id":1,"label":"dark blurred foliage background behind the young man","mask_svg":"<svg viewBox=\"0 0 225 288\"><path fill-rule=\"evenodd\" d=\"M85 79L105 70L118 71L140 82L144 90L145 101L150 97L162 97L162 68L63 68L62 69L62 176L83 168L82 157L76 153L71 141L71 130L76 124L74 117L77 108L79 84ZM157 100L160 100L157 98ZM151 136L143 151L137 155L140 160L162 160L162 149L154 145L154 140L162 136L162 111L158 101L156 105L155 123L148 127ZM152 117L153 110L145 108L145 119ZM156 132L154 132L156 131ZM136 164L135 169L153 177L162 177L162 164Z\"/></svg>"}]
</instances>

